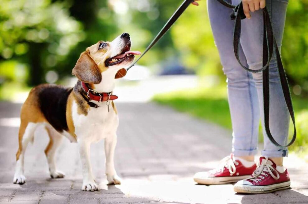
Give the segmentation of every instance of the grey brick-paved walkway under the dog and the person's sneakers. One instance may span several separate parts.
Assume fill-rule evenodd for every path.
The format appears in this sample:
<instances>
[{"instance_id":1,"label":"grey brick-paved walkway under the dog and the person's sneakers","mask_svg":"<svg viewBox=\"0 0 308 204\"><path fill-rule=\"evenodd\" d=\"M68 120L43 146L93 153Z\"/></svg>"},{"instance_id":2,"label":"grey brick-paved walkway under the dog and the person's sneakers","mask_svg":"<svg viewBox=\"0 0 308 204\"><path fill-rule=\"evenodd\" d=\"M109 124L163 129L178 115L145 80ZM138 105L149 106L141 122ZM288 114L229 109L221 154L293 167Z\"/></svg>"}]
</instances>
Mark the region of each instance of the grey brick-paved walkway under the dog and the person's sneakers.
<instances>
[{"instance_id":1,"label":"grey brick-paved walkway under the dog and the person's sneakers","mask_svg":"<svg viewBox=\"0 0 308 204\"><path fill-rule=\"evenodd\" d=\"M286 159L292 189L240 195L232 184L197 185L192 176L209 170L230 152L231 133L219 126L152 103L118 103L120 126L115 165L121 185L106 185L103 143L93 144L91 161L99 192L81 191L77 145L67 139L58 151L66 176L49 177L43 128L35 133L25 158L25 185L12 183L20 104L0 103L0 204L3 203L308 203L307 164Z\"/></svg>"}]
</instances>

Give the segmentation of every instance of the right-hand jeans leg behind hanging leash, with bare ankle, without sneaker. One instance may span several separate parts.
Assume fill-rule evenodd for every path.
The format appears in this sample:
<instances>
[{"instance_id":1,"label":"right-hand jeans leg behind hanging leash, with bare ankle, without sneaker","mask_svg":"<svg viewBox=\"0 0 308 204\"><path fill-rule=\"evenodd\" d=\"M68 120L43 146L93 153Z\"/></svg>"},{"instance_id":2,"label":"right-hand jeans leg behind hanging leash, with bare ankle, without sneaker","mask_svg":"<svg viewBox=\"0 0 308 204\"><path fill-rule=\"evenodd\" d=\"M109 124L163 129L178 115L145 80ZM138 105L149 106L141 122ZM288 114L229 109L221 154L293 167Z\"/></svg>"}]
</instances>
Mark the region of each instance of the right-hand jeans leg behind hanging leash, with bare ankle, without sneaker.
<instances>
[{"instance_id":1,"label":"right-hand jeans leg behind hanging leash, with bare ankle, without sneaker","mask_svg":"<svg viewBox=\"0 0 308 204\"><path fill-rule=\"evenodd\" d=\"M232 0L233 4L239 3L239 0ZM271 15L273 24L273 32L278 44L281 48L284 23L287 11L286 0L267 0L266 7ZM251 13L251 19L242 20L241 47L245 53L247 63L250 69L260 69L262 67L262 49L263 49L263 15L262 11ZM270 61L270 113L269 125L273 137L279 144L287 143L287 135L289 130L289 113L284 100L282 87L279 81L277 69L277 60L273 55ZM260 105L261 121L264 124L263 112L263 89L262 89L262 73L253 73L253 78L258 90L258 98ZM262 156L270 157L277 165L282 165L282 157L287 156L287 148L278 148L273 145L267 137L263 127L264 149Z\"/></svg>"}]
</instances>

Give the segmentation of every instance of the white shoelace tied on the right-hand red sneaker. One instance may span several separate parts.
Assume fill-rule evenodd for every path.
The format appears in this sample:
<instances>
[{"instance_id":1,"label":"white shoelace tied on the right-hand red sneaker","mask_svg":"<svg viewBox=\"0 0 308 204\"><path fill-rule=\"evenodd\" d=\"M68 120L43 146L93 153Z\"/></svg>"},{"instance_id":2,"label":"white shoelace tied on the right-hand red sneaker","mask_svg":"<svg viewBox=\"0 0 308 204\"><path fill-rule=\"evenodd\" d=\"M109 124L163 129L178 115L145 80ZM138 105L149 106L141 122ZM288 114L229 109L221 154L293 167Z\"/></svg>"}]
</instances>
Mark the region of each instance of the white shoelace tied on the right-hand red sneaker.
<instances>
[{"instance_id":1,"label":"white shoelace tied on the right-hand red sneaker","mask_svg":"<svg viewBox=\"0 0 308 204\"><path fill-rule=\"evenodd\" d=\"M265 177L270 174L274 179L279 179L279 173L274 169L274 167L271 164L268 164L268 157L265 157L265 160L262 160L262 164L258 163L258 168L252 173L252 177L247 180L255 181L256 183L262 181ZM276 175L274 175L274 173ZM264 177L265 176L265 177Z\"/></svg>"}]
</instances>

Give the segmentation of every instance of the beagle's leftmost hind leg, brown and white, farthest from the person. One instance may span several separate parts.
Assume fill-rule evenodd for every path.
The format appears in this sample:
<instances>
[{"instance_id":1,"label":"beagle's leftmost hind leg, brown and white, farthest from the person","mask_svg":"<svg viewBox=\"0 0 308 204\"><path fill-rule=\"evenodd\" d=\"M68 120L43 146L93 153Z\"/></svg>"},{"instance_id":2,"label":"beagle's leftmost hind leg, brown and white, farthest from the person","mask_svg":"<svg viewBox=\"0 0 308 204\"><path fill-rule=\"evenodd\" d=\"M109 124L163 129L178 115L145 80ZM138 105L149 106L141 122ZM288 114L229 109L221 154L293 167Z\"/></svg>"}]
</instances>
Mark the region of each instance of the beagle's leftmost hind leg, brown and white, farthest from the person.
<instances>
[{"instance_id":1,"label":"beagle's leftmost hind leg, brown and white, farthest from the person","mask_svg":"<svg viewBox=\"0 0 308 204\"><path fill-rule=\"evenodd\" d=\"M24 157L28 143L33 140L37 125L37 123L25 122L21 119L18 133L19 148L16 153L16 169L13 179L14 184L26 183L26 178L24 176Z\"/></svg>"}]
</instances>

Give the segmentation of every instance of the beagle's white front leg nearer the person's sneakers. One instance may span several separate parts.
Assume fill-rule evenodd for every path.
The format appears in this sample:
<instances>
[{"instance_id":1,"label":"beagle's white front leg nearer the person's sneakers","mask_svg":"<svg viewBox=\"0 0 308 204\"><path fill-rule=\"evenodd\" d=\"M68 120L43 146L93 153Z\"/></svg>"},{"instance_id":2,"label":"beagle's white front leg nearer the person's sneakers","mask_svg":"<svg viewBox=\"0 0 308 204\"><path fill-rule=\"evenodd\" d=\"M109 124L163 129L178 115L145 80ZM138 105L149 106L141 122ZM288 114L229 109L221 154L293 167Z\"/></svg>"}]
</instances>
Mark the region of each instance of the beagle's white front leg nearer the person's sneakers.
<instances>
[{"instance_id":1,"label":"beagle's white front leg nearer the person's sneakers","mask_svg":"<svg viewBox=\"0 0 308 204\"><path fill-rule=\"evenodd\" d=\"M114 149L117 135L105 138L106 176L109 184L121 184L121 179L114 168Z\"/></svg>"}]
</instances>

